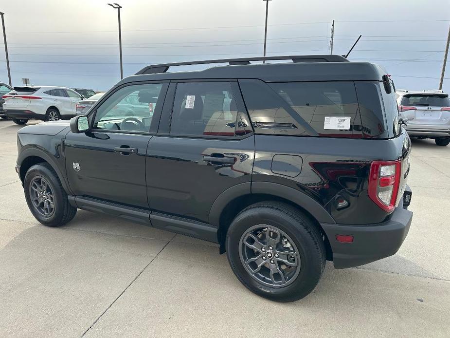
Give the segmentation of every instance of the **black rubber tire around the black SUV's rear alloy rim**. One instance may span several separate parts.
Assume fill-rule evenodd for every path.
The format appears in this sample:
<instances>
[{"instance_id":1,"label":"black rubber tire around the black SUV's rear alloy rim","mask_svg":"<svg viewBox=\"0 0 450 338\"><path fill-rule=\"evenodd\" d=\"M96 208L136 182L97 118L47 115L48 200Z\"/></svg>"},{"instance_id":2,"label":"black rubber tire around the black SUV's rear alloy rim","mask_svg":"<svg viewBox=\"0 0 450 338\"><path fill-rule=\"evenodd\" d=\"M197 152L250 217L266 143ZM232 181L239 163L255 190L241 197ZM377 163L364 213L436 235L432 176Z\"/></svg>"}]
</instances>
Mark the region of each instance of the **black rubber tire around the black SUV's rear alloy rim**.
<instances>
[{"instance_id":1,"label":"black rubber tire around the black SUV's rear alloy rim","mask_svg":"<svg viewBox=\"0 0 450 338\"><path fill-rule=\"evenodd\" d=\"M286 286L268 286L259 282L244 266L239 249L241 239L255 225L276 227L295 244L300 256L299 272ZM228 262L239 281L252 292L269 300L288 302L304 298L316 287L324 272L325 246L320 231L306 214L284 203L260 202L242 210L228 229L226 249ZM267 259L267 254L264 259ZM280 266L278 262L276 264ZM264 267L268 269L266 265L259 271Z\"/></svg>"}]
</instances>

